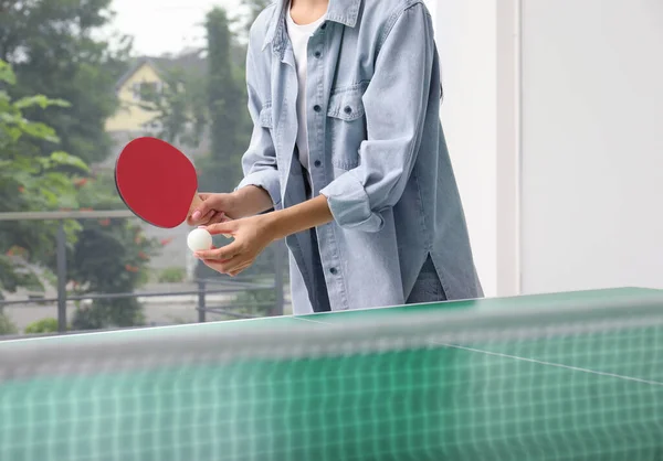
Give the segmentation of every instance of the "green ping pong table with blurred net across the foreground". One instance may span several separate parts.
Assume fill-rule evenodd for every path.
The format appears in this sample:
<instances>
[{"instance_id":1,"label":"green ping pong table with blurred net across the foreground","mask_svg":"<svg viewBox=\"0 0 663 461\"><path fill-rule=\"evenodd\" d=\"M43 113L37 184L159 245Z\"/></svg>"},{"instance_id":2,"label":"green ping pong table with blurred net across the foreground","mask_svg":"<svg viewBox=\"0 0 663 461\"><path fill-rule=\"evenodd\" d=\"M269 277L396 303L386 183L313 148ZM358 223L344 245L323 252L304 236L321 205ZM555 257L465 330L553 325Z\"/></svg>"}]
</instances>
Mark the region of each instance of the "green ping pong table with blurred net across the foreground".
<instances>
[{"instance_id":1,"label":"green ping pong table with blurred net across the foreground","mask_svg":"<svg viewBox=\"0 0 663 461\"><path fill-rule=\"evenodd\" d=\"M0 342L0 460L663 460L663 292Z\"/></svg>"}]
</instances>

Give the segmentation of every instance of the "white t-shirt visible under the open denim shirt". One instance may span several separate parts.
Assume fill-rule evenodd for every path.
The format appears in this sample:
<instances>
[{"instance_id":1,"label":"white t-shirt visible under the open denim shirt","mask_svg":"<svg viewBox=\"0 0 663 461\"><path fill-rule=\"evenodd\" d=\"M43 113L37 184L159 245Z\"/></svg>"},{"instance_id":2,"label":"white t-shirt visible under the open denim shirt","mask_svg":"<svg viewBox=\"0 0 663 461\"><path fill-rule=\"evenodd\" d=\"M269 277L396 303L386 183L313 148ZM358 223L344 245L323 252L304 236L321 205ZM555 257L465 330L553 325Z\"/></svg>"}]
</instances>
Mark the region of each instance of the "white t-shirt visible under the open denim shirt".
<instances>
[{"instance_id":1,"label":"white t-shirt visible under the open denim shirt","mask_svg":"<svg viewBox=\"0 0 663 461\"><path fill-rule=\"evenodd\" d=\"M297 93L297 149L299 150L299 162L308 170L308 130L306 128L306 69L307 69L307 51L308 51L308 39L318 29L318 26L325 21L326 14L323 15L311 24L296 24L288 12L286 15L287 34L291 43L293 44L293 52L295 54L295 65L297 68L297 79L299 84L299 90Z\"/></svg>"}]
</instances>

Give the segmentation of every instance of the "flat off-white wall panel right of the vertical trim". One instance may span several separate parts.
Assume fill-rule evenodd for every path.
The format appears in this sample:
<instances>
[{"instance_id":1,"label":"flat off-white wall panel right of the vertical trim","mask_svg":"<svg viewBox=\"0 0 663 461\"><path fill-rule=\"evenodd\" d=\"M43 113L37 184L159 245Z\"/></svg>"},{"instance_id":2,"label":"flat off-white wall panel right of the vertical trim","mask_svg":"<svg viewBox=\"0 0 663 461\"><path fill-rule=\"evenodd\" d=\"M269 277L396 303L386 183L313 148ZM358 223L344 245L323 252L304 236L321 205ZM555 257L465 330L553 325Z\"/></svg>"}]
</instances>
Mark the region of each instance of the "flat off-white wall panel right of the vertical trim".
<instances>
[{"instance_id":1,"label":"flat off-white wall panel right of the vertical trim","mask_svg":"<svg viewBox=\"0 0 663 461\"><path fill-rule=\"evenodd\" d=\"M663 288L663 1L523 0L522 60L523 292Z\"/></svg>"}]
</instances>

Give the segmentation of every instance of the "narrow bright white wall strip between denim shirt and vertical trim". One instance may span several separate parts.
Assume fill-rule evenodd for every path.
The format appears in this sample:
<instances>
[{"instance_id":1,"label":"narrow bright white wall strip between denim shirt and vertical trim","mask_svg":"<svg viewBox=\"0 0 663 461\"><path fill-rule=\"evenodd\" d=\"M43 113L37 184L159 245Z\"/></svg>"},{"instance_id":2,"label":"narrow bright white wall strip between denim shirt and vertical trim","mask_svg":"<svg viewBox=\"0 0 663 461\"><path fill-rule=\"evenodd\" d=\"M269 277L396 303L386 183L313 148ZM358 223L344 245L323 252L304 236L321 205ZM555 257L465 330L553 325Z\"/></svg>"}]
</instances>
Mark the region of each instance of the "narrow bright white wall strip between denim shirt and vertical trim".
<instances>
[{"instance_id":1,"label":"narrow bright white wall strip between denim shirt and vertical trim","mask_svg":"<svg viewBox=\"0 0 663 461\"><path fill-rule=\"evenodd\" d=\"M428 1L435 19L446 135L486 296L497 292L496 0Z\"/></svg>"}]
</instances>

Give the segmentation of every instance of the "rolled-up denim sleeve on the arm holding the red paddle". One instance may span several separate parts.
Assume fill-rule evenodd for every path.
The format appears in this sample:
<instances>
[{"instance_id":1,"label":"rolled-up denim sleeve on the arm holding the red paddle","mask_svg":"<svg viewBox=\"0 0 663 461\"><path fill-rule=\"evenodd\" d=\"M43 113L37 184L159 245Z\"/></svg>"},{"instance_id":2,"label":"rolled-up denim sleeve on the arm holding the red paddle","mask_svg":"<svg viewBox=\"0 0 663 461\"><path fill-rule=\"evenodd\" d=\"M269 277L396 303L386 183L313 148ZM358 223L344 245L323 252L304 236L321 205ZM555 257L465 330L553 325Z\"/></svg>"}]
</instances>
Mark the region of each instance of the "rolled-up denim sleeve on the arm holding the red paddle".
<instances>
[{"instance_id":1,"label":"rolled-up denim sleeve on the arm holding the red paddle","mask_svg":"<svg viewBox=\"0 0 663 461\"><path fill-rule=\"evenodd\" d=\"M270 133L272 124L271 101L265 101L261 97L261 86L269 85L269 69L261 72L255 62L255 55L252 47L256 42L250 44L246 53L246 85L249 93L249 114L253 121L253 132L249 149L242 157L242 170L244 179L235 190L248 185L255 185L264 189L271 196L274 207L281 205L281 186L278 180L278 170L276 167L276 151ZM253 46L252 46L253 45ZM262 82L262 81L265 82Z\"/></svg>"}]
</instances>

